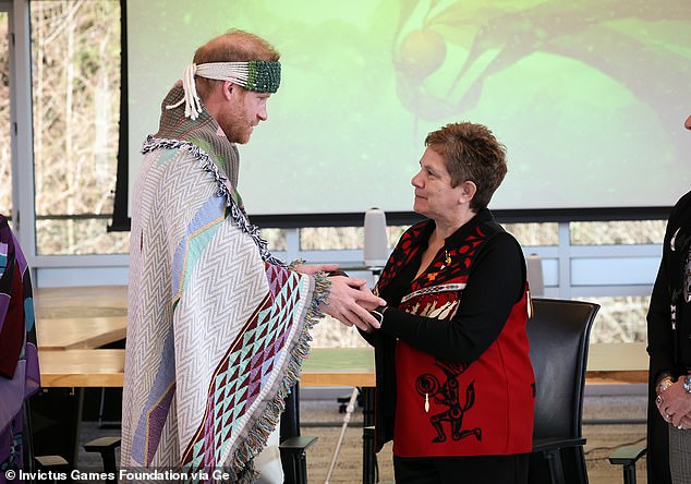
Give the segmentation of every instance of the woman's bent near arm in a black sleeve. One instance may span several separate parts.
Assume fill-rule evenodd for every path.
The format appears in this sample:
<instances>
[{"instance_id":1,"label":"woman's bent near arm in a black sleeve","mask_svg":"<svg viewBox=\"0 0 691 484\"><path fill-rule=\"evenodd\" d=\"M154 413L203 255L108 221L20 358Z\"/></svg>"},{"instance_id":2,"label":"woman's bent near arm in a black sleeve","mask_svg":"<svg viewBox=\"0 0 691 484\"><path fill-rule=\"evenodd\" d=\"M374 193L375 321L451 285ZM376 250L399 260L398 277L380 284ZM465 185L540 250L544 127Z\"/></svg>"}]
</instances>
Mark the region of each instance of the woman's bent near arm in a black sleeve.
<instances>
[{"instance_id":1,"label":"woman's bent near arm in a black sleeve","mask_svg":"<svg viewBox=\"0 0 691 484\"><path fill-rule=\"evenodd\" d=\"M523 293L521 249L508 233L486 242L450 320L386 310L380 330L436 358L474 361L497 339L513 304Z\"/></svg>"}]
</instances>

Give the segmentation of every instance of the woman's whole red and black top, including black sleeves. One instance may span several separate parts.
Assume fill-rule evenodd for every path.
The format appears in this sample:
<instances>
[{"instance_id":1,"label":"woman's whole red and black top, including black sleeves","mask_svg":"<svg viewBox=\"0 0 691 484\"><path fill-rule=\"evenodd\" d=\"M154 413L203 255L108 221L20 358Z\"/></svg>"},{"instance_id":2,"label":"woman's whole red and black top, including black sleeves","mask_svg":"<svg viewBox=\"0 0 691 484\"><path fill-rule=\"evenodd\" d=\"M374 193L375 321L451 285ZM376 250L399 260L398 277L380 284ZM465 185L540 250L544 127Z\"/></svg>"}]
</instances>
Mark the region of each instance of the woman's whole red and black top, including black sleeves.
<instances>
[{"instance_id":1,"label":"woman's whole red and black top, including black sleeves","mask_svg":"<svg viewBox=\"0 0 691 484\"><path fill-rule=\"evenodd\" d=\"M364 335L375 347L376 448L393 438L405 457L528 452L534 376L521 247L481 210L415 279L434 227L411 227L377 283L389 310Z\"/></svg>"}]
</instances>

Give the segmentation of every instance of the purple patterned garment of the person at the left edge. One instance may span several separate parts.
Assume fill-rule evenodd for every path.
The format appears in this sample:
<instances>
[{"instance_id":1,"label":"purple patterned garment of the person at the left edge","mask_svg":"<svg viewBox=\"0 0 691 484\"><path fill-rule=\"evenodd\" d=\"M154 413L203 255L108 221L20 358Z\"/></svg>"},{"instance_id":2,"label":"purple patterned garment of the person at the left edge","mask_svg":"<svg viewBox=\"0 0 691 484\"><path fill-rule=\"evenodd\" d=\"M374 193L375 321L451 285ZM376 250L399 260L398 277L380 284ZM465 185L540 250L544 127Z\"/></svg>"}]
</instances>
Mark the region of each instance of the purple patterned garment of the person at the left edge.
<instances>
[{"instance_id":1,"label":"purple patterned garment of the person at the left edge","mask_svg":"<svg viewBox=\"0 0 691 484\"><path fill-rule=\"evenodd\" d=\"M32 294L26 259L0 215L0 484L24 469L22 406L40 386Z\"/></svg>"}]
</instances>

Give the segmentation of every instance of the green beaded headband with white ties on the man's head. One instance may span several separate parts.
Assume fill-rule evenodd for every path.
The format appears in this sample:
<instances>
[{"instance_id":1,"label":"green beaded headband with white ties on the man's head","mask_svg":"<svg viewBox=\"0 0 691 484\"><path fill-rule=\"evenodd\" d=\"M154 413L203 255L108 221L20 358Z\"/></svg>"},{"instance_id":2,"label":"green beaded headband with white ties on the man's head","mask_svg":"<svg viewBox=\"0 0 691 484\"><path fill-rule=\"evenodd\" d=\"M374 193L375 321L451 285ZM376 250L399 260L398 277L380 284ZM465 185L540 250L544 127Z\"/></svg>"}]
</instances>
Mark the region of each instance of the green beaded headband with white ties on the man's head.
<instances>
[{"instance_id":1,"label":"green beaded headband with white ties on the man's head","mask_svg":"<svg viewBox=\"0 0 691 484\"><path fill-rule=\"evenodd\" d=\"M184 97L166 109L174 109L185 105L185 117L197 119L202 112L202 102L196 92L194 76L231 81L247 90L257 93L276 93L281 83L281 64L278 61L248 62L209 62L205 64L190 64L182 77Z\"/></svg>"}]
</instances>

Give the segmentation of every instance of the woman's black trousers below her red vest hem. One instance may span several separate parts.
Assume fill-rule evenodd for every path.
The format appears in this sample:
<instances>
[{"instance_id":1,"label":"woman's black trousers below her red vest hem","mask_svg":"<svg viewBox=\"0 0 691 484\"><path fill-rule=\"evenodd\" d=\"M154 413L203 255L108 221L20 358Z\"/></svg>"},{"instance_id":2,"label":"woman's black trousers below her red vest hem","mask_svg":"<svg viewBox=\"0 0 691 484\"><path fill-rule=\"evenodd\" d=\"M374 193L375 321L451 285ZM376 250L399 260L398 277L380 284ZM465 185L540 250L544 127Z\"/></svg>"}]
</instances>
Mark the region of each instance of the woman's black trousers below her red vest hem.
<instances>
[{"instance_id":1,"label":"woman's black trousers below her red vest hem","mask_svg":"<svg viewBox=\"0 0 691 484\"><path fill-rule=\"evenodd\" d=\"M396 484L526 484L529 453L472 457L393 456Z\"/></svg>"}]
</instances>

